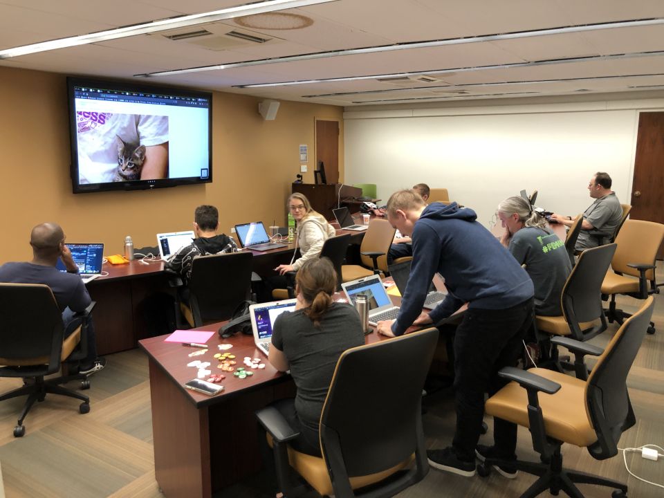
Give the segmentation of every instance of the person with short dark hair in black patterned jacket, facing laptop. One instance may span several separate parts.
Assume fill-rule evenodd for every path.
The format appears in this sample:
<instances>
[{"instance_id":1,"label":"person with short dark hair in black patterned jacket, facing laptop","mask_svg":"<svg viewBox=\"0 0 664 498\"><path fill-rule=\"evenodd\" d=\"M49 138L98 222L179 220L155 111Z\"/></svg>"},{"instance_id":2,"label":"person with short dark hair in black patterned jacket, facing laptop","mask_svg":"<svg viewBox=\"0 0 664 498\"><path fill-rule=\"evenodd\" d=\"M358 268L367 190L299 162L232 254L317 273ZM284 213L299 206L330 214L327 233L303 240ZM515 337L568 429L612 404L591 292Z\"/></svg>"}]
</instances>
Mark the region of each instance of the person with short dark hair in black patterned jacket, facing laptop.
<instances>
[{"instance_id":1,"label":"person with short dark hair in black patterned jacket, facing laptop","mask_svg":"<svg viewBox=\"0 0 664 498\"><path fill-rule=\"evenodd\" d=\"M196 239L183 246L167 261L166 268L182 277L185 285L192 277L192 261L197 256L237 252L235 241L225 234L217 234L219 210L213 205L200 205L194 211L194 234ZM188 296L184 296L185 300Z\"/></svg>"}]
</instances>

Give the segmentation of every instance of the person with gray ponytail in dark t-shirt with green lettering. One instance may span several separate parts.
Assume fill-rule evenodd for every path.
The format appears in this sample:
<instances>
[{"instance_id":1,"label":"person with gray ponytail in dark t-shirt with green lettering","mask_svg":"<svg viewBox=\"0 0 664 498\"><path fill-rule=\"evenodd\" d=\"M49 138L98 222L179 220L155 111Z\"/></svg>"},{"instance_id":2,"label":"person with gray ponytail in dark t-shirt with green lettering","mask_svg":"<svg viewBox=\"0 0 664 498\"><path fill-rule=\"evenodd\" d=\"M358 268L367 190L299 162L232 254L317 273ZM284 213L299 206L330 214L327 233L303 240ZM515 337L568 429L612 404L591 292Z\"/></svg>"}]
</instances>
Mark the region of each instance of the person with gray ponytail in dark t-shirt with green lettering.
<instances>
[{"instance_id":1,"label":"person with gray ponytail in dark t-shirt with green lettering","mask_svg":"<svg viewBox=\"0 0 664 498\"><path fill-rule=\"evenodd\" d=\"M560 294L572 270L564 243L523 197L502 201L498 218L505 228L501 243L526 265L535 285L535 315L562 315Z\"/></svg>"}]
</instances>

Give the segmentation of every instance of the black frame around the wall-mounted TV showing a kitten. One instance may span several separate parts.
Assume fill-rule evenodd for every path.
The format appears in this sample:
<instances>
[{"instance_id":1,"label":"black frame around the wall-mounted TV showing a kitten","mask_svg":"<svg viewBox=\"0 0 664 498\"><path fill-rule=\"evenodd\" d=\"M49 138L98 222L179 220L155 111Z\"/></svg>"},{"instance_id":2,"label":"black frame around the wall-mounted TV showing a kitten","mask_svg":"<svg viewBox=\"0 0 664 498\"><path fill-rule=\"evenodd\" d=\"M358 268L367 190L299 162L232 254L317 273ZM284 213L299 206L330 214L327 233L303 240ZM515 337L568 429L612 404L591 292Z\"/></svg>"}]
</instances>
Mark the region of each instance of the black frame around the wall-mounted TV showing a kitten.
<instances>
[{"instance_id":1,"label":"black frame around the wall-mounted TV showing a kitten","mask_svg":"<svg viewBox=\"0 0 664 498\"><path fill-rule=\"evenodd\" d=\"M189 176L183 178L160 178L155 180L136 180L108 183L79 183L78 171L78 143L76 129L76 109L75 109L75 87L90 87L93 89L107 89L110 91L126 91L131 93L149 93L174 97L205 98L208 100L208 177ZM190 89L180 89L169 86L151 86L145 84L135 84L133 82L122 82L114 80L98 80L87 77L67 77L67 99L68 99L68 119L69 136L71 146L71 162L69 165L69 174L71 176L72 190L74 194L87 192L108 192L117 190L151 190L155 188L176 187L178 185L200 185L212 183L212 93L205 91L195 91Z\"/></svg>"}]
</instances>

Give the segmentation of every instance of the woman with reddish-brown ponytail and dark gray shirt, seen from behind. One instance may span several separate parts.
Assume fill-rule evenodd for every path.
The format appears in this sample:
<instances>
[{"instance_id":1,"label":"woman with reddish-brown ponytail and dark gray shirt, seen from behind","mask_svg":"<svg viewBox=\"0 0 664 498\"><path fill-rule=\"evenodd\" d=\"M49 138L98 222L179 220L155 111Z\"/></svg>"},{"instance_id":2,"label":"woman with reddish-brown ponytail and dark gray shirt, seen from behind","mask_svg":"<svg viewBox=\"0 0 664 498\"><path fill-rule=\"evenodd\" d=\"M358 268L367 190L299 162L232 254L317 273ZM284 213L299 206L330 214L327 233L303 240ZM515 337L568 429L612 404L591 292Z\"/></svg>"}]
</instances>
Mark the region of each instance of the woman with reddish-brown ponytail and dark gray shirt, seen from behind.
<instances>
[{"instance_id":1,"label":"woman with reddish-brown ponytail and dark gray shirt, seen from behind","mask_svg":"<svg viewBox=\"0 0 664 498\"><path fill-rule=\"evenodd\" d=\"M305 261L295 277L295 311L277 317L270 346L270 363L279 371L290 369L297 387L295 399L273 406L299 432L293 448L317 457L320 414L337 361L347 349L365 344L355 308L333 302L336 287L329 259Z\"/></svg>"}]
</instances>

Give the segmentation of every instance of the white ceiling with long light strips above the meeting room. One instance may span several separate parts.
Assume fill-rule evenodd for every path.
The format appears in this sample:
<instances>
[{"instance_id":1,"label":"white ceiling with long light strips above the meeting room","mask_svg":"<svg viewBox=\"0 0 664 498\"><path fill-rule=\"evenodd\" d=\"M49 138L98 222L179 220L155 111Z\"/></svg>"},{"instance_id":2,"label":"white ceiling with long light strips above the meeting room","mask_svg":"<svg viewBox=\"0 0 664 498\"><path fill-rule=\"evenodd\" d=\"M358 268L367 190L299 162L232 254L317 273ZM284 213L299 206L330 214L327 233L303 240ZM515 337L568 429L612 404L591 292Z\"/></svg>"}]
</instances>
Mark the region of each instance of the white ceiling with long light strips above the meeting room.
<instances>
[{"instance_id":1,"label":"white ceiling with long light strips above the meeting room","mask_svg":"<svg viewBox=\"0 0 664 498\"><path fill-rule=\"evenodd\" d=\"M219 10L240 3L239 0L0 0L0 49ZM159 34L138 35L3 59L0 65L346 107L664 89L664 25L407 48L150 78L135 76L326 50L658 19L664 18L664 1L338 0L283 12L313 22L300 29L268 30L246 28L228 20L196 26L196 30L205 28L212 33L201 38L173 41ZM225 37L230 30L270 38L270 42L255 44L230 39ZM199 43L221 45L210 50ZM658 51L663 54L647 54ZM584 59L573 60L580 57ZM506 64L513 66L504 67ZM436 81L381 82L371 77L265 88L236 87L404 72L425 73Z\"/></svg>"}]
</instances>

